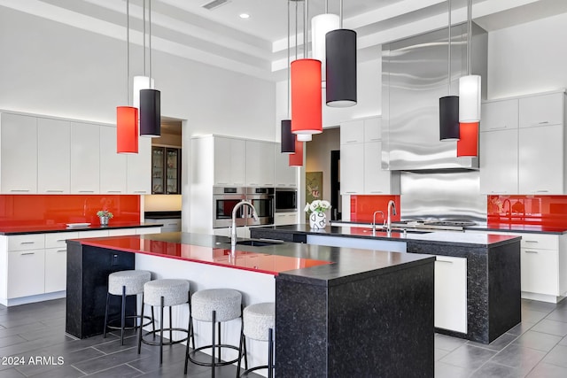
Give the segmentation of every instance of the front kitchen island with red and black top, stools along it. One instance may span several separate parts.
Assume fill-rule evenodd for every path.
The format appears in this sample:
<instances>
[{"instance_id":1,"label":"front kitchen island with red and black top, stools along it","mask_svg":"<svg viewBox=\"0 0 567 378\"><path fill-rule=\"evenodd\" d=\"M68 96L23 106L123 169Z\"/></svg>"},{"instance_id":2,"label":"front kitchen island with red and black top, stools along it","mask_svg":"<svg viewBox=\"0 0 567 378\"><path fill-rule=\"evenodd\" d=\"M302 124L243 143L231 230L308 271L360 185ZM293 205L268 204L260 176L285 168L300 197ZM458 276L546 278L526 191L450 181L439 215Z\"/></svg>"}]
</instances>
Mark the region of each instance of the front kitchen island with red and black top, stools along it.
<instances>
[{"instance_id":1,"label":"front kitchen island with red and black top, stools along it","mask_svg":"<svg viewBox=\"0 0 567 378\"><path fill-rule=\"evenodd\" d=\"M66 332L102 333L107 275L147 269L189 279L191 292L226 287L243 291L244 305L276 301L279 376L433 375L434 258L299 243L232 252L227 237L185 233L68 241ZM186 327L187 317L175 319ZM196 328L199 344L206 329ZM251 350L265 360L265 344Z\"/></svg>"}]
</instances>

